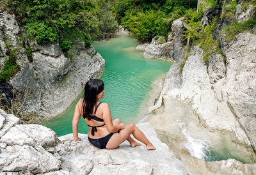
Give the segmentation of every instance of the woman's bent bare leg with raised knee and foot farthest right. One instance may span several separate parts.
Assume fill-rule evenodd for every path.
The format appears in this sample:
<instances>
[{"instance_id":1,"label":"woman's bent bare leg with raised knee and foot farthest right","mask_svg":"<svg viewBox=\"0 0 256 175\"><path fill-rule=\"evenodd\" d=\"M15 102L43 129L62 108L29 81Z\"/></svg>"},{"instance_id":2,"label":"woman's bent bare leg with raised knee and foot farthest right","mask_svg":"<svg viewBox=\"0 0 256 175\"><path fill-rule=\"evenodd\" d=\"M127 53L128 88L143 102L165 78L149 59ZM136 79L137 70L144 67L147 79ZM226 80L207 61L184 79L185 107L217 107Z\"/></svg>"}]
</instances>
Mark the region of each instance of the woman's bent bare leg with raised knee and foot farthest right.
<instances>
[{"instance_id":1,"label":"woman's bent bare leg with raised knee and foot farthest right","mask_svg":"<svg viewBox=\"0 0 256 175\"><path fill-rule=\"evenodd\" d=\"M135 139L143 142L143 144L146 145L147 149L156 149L153 146L153 144L150 141L148 141L144 133L141 132L141 130L137 126L135 126L133 123L125 125L124 130L120 130L120 133L114 133L111 139L109 139L106 148L107 149L117 148L122 142L124 142L129 138L131 133L135 137Z\"/></svg>"}]
</instances>

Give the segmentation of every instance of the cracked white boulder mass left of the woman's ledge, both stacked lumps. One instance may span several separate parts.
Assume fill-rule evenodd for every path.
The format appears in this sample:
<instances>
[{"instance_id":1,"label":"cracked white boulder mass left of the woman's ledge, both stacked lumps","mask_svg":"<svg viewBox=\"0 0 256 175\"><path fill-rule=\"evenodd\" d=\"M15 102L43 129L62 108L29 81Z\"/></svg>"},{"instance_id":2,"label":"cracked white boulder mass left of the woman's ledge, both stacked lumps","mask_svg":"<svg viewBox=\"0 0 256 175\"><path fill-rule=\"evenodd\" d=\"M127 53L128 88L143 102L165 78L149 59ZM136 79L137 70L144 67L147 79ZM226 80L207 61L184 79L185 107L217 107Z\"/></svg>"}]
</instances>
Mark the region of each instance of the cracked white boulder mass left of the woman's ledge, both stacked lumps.
<instances>
[{"instance_id":1,"label":"cracked white boulder mass left of the woman's ledge, both stacked lumps","mask_svg":"<svg viewBox=\"0 0 256 175\"><path fill-rule=\"evenodd\" d=\"M40 173L56 171L61 161L45 148L59 144L56 133L40 125L26 125L12 114L0 110L0 171Z\"/></svg>"}]
</instances>

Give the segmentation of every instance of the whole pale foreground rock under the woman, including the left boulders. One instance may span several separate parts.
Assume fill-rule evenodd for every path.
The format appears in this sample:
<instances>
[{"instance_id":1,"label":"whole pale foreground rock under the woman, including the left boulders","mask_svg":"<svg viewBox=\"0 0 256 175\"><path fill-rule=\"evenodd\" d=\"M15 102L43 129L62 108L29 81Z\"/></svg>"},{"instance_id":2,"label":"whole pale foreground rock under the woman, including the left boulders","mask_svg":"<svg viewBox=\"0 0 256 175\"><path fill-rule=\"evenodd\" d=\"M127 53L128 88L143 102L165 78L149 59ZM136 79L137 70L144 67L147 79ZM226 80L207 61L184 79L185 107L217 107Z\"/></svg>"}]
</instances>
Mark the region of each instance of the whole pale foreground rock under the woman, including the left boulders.
<instances>
[{"instance_id":1,"label":"whole pale foreground rock under the woman, including the left boulders","mask_svg":"<svg viewBox=\"0 0 256 175\"><path fill-rule=\"evenodd\" d=\"M156 146L98 149L88 142L70 141L72 133L57 137L45 126L26 124L0 110L0 174L187 174L173 151L157 138L148 123L137 125Z\"/></svg>"}]
</instances>

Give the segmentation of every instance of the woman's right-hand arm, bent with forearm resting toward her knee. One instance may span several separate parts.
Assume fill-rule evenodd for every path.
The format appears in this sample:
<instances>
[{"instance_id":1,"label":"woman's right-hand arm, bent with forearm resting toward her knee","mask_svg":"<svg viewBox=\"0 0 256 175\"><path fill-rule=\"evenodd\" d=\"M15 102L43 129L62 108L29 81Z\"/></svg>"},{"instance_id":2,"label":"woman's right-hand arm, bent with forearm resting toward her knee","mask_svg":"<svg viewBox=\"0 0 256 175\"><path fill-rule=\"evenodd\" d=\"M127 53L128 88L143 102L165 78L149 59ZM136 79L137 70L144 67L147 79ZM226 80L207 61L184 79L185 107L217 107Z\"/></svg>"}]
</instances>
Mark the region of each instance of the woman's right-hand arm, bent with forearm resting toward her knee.
<instances>
[{"instance_id":1,"label":"woman's right-hand arm, bent with forearm resting toward her knee","mask_svg":"<svg viewBox=\"0 0 256 175\"><path fill-rule=\"evenodd\" d=\"M109 109L108 103L102 104L103 114L102 118L107 126L108 132L118 132L119 130L124 129L124 124L121 123L120 125L114 126L111 118L111 112Z\"/></svg>"}]
</instances>

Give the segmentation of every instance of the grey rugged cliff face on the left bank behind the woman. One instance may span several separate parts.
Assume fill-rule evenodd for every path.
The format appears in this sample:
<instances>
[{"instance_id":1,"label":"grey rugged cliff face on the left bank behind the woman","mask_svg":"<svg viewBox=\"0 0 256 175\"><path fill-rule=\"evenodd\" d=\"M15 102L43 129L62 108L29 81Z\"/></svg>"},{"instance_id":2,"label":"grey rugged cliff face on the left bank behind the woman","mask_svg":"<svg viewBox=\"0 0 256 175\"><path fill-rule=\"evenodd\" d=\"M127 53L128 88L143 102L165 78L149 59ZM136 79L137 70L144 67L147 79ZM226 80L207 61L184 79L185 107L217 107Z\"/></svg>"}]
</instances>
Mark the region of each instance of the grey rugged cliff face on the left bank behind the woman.
<instances>
[{"instance_id":1,"label":"grey rugged cliff face on the left bank behind the woman","mask_svg":"<svg viewBox=\"0 0 256 175\"><path fill-rule=\"evenodd\" d=\"M20 67L10 79L9 86L22 93L26 89L29 91L24 112L33 112L44 118L61 114L83 91L86 81L99 77L104 70L104 59L93 47L86 49L82 44L74 45L70 60L61 52L58 43L38 45L33 40L22 41L20 36L24 29L17 25L13 15L0 13L0 29L1 68L10 47L16 50ZM28 49L31 50L30 56ZM8 88L2 86L7 94ZM8 101L10 95L4 98Z\"/></svg>"}]
</instances>

